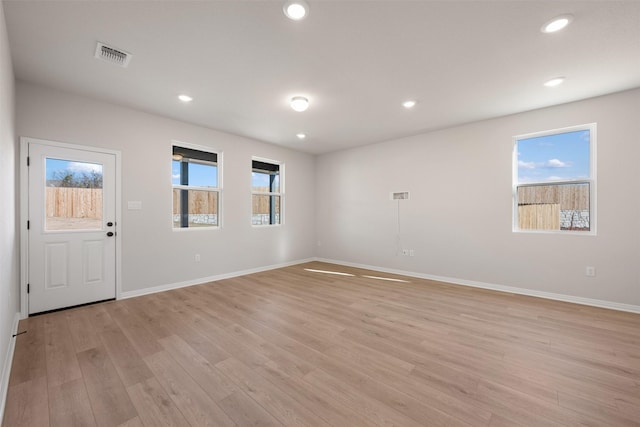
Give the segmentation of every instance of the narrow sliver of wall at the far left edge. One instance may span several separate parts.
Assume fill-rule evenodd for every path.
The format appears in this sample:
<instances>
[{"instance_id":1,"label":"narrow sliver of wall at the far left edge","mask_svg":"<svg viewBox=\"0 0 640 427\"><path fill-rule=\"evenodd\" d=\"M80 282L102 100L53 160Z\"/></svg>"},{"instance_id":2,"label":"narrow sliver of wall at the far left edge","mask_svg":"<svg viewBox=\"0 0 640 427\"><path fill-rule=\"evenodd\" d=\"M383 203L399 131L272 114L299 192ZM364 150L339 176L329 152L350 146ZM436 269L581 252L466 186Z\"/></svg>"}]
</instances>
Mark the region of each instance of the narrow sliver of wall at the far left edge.
<instances>
[{"instance_id":1,"label":"narrow sliver of wall at the far left edge","mask_svg":"<svg viewBox=\"0 0 640 427\"><path fill-rule=\"evenodd\" d=\"M4 9L0 2L0 418L9 380L14 320L19 307L16 199L15 83Z\"/></svg>"}]
</instances>

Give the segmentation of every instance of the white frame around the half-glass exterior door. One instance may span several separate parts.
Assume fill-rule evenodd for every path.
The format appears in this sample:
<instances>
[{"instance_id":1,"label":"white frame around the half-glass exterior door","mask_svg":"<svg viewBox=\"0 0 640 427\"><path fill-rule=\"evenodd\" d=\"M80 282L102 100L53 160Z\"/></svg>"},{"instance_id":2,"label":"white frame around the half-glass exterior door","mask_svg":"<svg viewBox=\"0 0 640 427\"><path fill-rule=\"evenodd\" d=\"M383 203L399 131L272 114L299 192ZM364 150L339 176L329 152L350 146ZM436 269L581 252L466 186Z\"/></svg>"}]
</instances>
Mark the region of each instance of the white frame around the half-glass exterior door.
<instances>
[{"instance_id":1,"label":"white frame around the half-glass exterior door","mask_svg":"<svg viewBox=\"0 0 640 427\"><path fill-rule=\"evenodd\" d=\"M20 137L20 317L29 317L29 294L27 293L27 283L29 280L29 232L27 231L27 221L29 220L29 167L27 157L29 155L29 144L41 144L51 147L69 148L74 150L92 151L98 153L112 154L116 159L116 188L115 188L115 208L116 224L119 233L122 231L122 168L121 155L119 150L110 150L87 145L69 144L66 142L50 141L30 137ZM122 294L122 239L116 235L116 299L120 299Z\"/></svg>"}]
</instances>

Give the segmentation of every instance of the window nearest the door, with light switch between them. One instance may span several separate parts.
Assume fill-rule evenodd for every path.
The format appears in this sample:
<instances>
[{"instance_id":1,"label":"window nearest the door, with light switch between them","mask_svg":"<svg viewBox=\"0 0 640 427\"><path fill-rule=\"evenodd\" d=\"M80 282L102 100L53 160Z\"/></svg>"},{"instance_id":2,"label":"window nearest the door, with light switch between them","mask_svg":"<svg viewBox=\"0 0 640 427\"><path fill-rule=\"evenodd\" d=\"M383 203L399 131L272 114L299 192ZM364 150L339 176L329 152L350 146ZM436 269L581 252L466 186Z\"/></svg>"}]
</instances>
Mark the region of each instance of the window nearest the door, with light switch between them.
<instances>
[{"instance_id":1,"label":"window nearest the door, with light switch between them","mask_svg":"<svg viewBox=\"0 0 640 427\"><path fill-rule=\"evenodd\" d=\"M220 225L218 154L192 147L173 146L173 227Z\"/></svg>"}]
</instances>

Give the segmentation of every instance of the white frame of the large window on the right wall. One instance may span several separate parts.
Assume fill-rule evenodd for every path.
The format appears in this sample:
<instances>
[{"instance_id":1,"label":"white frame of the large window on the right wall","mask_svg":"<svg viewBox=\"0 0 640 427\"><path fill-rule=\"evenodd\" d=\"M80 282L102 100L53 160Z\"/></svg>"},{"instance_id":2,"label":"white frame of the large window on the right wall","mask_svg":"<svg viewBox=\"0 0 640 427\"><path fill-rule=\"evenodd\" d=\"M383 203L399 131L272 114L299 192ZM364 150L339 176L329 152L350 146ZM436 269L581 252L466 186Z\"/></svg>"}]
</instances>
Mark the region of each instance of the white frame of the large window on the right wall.
<instances>
[{"instance_id":1,"label":"white frame of the large window on the right wall","mask_svg":"<svg viewBox=\"0 0 640 427\"><path fill-rule=\"evenodd\" d=\"M580 130L589 131L589 178L574 180L557 180L557 181L539 181L528 182L526 184L518 184L518 141L537 138L541 136L557 135L562 133L576 132ZM559 129L552 129L542 132L533 132L513 137L513 153L512 153L512 230L515 233L534 233L534 234L568 234L572 236L595 236L596 235L596 141L597 141L597 125L596 123L588 123L583 125L568 126ZM530 187L536 185L566 185L566 184L589 184L589 230L529 230L520 229L518 226L518 188Z\"/></svg>"}]
</instances>

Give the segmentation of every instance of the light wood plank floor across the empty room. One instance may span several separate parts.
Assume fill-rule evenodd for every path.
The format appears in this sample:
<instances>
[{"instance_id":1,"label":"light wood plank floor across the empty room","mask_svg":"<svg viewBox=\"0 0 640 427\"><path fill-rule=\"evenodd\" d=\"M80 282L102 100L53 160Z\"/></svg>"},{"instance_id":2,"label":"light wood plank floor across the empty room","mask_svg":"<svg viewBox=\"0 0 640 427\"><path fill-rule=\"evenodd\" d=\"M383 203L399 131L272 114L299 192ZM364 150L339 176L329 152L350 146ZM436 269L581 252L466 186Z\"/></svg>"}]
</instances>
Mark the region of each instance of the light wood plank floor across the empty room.
<instances>
[{"instance_id":1,"label":"light wood plank floor across the empty room","mask_svg":"<svg viewBox=\"0 0 640 427\"><path fill-rule=\"evenodd\" d=\"M640 315L331 264L20 330L4 426L640 425Z\"/></svg>"}]
</instances>

